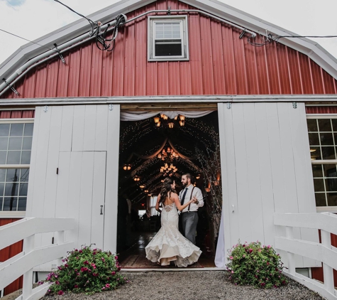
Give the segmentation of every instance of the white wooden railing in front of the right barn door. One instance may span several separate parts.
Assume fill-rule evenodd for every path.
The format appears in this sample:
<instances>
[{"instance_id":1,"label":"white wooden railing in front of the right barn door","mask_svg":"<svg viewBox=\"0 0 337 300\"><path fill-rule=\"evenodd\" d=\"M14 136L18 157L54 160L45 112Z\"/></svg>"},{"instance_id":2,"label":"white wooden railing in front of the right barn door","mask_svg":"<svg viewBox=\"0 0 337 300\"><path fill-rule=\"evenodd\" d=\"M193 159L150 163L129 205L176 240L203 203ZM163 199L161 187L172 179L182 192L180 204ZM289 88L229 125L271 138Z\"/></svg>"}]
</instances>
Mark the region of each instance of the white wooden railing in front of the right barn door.
<instances>
[{"instance_id":1,"label":"white wooden railing in front of the right barn door","mask_svg":"<svg viewBox=\"0 0 337 300\"><path fill-rule=\"evenodd\" d=\"M274 224L286 227L286 237L275 237L275 247L287 252L288 270L284 273L327 299L337 299L333 269L337 269L337 248L331 246L331 233L337 235L337 215L333 213L277 213ZM293 228L321 230L321 243L294 239ZM324 284L295 271L294 255L323 263ZM337 282L336 282L337 285Z\"/></svg>"}]
</instances>

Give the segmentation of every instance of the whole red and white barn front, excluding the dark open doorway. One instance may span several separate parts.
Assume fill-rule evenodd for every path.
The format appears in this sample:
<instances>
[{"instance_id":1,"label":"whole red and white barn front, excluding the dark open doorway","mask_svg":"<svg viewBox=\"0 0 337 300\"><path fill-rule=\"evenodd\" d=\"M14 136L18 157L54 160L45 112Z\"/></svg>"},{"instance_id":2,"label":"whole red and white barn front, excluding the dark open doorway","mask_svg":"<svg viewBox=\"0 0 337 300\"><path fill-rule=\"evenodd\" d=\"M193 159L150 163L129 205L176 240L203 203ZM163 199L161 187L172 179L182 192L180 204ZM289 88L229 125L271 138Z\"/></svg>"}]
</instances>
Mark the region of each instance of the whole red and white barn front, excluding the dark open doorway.
<instances>
[{"instance_id":1,"label":"whole red and white barn front, excluding the dark open doorway","mask_svg":"<svg viewBox=\"0 0 337 300\"><path fill-rule=\"evenodd\" d=\"M27 45L0 66L1 222L74 218L77 247L116 252L121 120L164 112L216 112L223 257L239 239L275 246L286 235L275 213L337 213L336 59L305 38L273 39L292 33L216 1L121 1L89 18L120 14L112 51L77 21L40 38L60 53ZM294 235L319 242L317 230ZM36 235L35 246L51 240Z\"/></svg>"}]
</instances>

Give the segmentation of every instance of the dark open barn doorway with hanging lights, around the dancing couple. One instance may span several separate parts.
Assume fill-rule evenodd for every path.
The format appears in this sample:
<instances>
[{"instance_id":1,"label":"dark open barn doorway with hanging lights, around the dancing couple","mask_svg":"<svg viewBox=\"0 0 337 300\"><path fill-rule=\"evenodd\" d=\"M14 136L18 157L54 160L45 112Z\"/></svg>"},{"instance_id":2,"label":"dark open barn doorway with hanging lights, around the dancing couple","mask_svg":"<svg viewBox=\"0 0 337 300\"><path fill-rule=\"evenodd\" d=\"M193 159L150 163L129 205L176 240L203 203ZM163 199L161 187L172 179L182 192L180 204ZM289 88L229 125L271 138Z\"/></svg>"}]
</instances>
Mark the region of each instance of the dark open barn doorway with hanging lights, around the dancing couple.
<instances>
[{"instance_id":1,"label":"dark open barn doorway with hanging lights, around the dancing couple","mask_svg":"<svg viewBox=\"0 0 337 300\"><path fill-rule=\"evenodd\" d=\"M145 258L145 246L160 230L155 203L166 176L179 193L182 173L192 174L205 203L196 237L202 255L192 267L215 267L222 205L218 113L193 113L162 109L143 112L137 121L123 121L121 114L117 252L122 268L160 267Z\"/></svg>"}]
</instances>

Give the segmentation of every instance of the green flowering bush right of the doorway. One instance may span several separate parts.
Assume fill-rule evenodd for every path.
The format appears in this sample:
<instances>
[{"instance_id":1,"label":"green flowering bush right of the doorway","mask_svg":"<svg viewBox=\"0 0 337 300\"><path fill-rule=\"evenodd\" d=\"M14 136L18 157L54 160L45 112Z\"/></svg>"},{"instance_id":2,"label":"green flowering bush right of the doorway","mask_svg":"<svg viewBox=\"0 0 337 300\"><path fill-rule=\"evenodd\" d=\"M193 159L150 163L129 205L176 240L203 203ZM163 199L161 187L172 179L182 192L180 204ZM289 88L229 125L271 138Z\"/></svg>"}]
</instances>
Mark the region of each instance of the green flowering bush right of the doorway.
<instances>
[{"instance_id":1,"label":"green flowering bush right of the doorway","mask_svg":"<svg viewBox=\"0 0 337 300\"><path fill-rule=\"evenodd\" d=\"M259 288L277 288L287 284L282 274L283 263L280 255L271 246L261 246L260 242L238 244L228 252L227 269L234 284L248 284Z\"/></svg>"}]
</instances>

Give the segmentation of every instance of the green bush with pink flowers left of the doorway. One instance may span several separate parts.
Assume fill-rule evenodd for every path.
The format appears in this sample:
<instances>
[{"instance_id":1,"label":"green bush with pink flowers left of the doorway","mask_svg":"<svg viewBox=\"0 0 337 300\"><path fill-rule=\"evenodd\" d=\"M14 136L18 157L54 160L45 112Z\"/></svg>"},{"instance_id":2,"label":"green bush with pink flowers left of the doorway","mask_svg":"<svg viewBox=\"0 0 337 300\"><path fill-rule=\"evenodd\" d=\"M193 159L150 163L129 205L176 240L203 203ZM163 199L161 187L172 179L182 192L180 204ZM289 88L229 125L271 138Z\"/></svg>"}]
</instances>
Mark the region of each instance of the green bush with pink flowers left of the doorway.
<instances>
[{"instance_id":1,"label":"green bush with pink flowers left of the doorway","mask_svg":"<svg viewBox=\"0 0 337 300\"><path fill-rule=\"evenodd\" d=\"M111 252L91 248L92 245L82 246L80 250L67 252L67 257L62 259L64 264L48 274L45 279L45 282L52 283L47 294L62 295L65 291L92 294L116 289L117 286L128 282L118 274L121 267L117 256Z\"/></svg>"}]
</instances>

